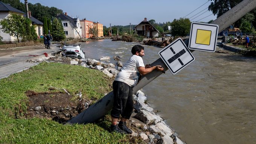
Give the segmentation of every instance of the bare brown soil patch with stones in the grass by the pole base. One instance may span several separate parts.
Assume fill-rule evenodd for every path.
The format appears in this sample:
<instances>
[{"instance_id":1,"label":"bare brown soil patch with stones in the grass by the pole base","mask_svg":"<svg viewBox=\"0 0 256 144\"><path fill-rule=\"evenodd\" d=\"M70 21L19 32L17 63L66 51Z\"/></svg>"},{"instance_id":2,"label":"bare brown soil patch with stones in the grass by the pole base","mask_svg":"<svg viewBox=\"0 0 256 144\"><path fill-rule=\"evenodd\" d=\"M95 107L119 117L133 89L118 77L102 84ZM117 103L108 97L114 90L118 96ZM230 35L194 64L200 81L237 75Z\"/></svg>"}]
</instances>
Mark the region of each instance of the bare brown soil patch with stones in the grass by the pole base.
<instances>
[{"instance_id":1,"label":"bare brown soil patch with stones in the grass by the pole base","mask_svg":"<svg viewBox=\"0 0 256 144\"><path fill-rule=\"evenodd\" d=\"M26 95L29 98L27 118L47 118L59 123L75 117L90 104L88 100L73 98L66 92L36 93L27 91Z\"/></svg>"}]
</instances>

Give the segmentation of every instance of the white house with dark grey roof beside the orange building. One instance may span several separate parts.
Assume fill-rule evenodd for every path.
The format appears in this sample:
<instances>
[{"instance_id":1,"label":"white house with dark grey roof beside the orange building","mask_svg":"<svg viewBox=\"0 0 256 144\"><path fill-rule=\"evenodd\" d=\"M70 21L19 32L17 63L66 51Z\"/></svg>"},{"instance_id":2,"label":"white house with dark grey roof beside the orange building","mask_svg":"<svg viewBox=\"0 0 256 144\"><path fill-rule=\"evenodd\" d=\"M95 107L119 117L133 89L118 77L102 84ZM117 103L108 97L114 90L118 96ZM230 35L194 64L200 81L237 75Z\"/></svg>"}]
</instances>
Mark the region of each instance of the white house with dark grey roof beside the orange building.
<instances>
[{"instance_id":1,"label":"white house with dark grey roof beside the orange building","mask_svg":"<svg viewBox=\"0 0 256 144\"><path fill-rule=\"evenodd\" d=\"M79 18L72 18L67 15L67 12L57 15L56 18L61 19L66 38L80 38L82 27Z\"/></svg>"}]
</instances>

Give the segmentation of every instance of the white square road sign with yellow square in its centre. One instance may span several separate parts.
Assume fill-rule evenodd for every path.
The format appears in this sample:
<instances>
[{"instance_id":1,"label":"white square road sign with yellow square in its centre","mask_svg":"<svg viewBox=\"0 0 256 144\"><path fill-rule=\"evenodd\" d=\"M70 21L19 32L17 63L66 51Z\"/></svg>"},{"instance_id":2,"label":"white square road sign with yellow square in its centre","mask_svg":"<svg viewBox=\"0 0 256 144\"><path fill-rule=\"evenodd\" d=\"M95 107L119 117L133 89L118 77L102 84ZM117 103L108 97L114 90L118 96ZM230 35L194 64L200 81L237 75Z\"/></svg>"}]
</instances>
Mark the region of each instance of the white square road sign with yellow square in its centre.
<instances>
[{"instance_id":1,"label":"white square road sign with yellow square in its centre","mask_svg":"<svg viewBox=\"0 0 256 144\"><path fill-rule=\"evenodd\" d=\"M206 23L192 23L189 49L215 52L219 26Z\"/></svg>"}]
</instances>

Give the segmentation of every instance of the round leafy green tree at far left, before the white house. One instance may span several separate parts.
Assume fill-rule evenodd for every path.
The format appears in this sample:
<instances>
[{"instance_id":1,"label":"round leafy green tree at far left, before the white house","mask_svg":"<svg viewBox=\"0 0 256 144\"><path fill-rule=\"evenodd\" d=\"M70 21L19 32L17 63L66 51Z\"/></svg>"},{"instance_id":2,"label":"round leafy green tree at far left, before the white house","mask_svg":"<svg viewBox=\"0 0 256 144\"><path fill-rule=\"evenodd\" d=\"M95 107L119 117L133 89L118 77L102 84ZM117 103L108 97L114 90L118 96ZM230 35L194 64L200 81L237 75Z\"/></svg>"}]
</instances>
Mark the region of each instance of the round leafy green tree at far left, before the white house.
<instances>
[{"instance_id":1,"label":"round leafy green tree at far left, before the white house","mask_svg":"<svg viewBox=\"0 0 256 144\"><path fill-rule=\"evenodd\" d=\"M17 38L17 41L20 42L19 38L24 35L24 17L17 14L11 14L7 18L0 21L2 30L5 33L9 33L11 36Z\"/></svg>"}]
</instances>

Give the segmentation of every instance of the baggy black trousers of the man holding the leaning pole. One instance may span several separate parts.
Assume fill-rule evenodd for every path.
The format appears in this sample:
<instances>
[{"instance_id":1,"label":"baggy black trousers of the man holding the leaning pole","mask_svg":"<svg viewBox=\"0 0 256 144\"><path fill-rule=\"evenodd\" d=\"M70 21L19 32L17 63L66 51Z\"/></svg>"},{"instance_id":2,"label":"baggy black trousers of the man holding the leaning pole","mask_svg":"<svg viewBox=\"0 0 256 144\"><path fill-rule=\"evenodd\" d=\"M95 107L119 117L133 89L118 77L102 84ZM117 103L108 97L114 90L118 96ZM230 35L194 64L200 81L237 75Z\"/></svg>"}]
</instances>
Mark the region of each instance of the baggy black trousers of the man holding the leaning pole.
<instances>
[{"instance_id":1,"label":"baggy black trousers of the man holding the leaning pole","mask_svg":"<svg viewBox=\"0 0 256 144\"><path fill-rule=\"evenodd\" d=\"M111 117L130 119L133 112L133 88L124 82L113 82L114 106Z\"/></svg>"}]
</instances>

